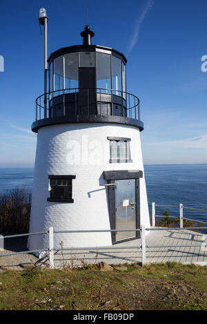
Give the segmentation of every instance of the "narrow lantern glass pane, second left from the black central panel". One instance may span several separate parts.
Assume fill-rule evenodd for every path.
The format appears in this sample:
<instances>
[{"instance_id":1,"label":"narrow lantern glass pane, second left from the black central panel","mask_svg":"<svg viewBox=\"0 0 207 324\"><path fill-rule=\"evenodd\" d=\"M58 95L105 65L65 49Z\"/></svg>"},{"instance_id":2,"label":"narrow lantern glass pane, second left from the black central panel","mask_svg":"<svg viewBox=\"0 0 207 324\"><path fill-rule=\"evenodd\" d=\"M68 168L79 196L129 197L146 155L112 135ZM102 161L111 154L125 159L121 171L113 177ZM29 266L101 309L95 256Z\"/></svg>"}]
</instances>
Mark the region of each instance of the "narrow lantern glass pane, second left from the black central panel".
<instances>
[{"instance_id":1,"label":"narrow lantern glass pane, second left from the black central panel","mask_svg":"<svg viewBox=\"0 0 207 324\"><path fill-rule=\"evenodd\" d=\"M63 91L63 56L57 57L54 60L54 77L55 77L55 96L59 96Z\"/></svg>"}]
</instances>

